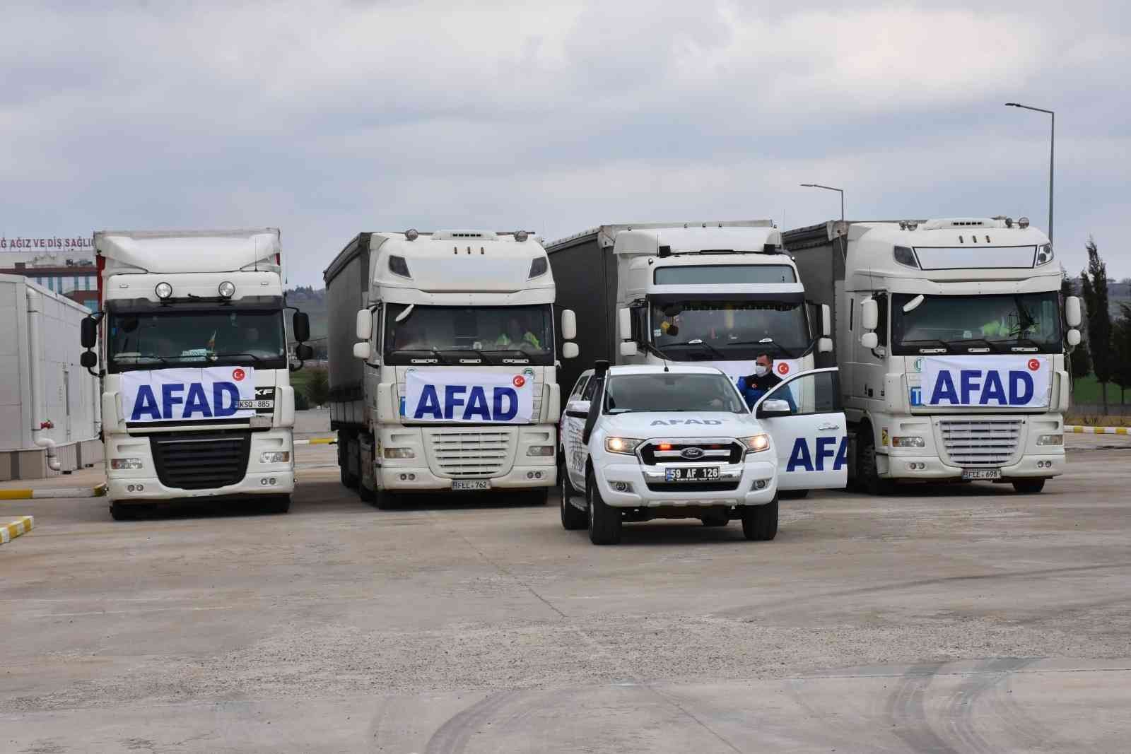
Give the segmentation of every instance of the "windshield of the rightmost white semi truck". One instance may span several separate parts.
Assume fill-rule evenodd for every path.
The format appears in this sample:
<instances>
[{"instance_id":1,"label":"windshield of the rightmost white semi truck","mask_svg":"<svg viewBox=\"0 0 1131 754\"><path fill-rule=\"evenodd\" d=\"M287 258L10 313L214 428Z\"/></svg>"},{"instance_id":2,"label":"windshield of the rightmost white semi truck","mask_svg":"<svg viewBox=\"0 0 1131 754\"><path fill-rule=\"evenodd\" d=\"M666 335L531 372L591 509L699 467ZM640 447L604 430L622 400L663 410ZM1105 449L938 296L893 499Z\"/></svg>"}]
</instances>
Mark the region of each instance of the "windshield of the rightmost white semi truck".
<instances>
[{"instance_id":1,"label":"windshield of the rightmost white semi truck","mask_svg":"<svg viewBox=\"0 0 1131 754\"><path fill-rule=\"evenodd\" d=\"M924 296L908 312L916 294L891 297L892 353L1041 353L1059 354L1060 295L1046 293L975 296Z\"/></svg>"}]
</instances>

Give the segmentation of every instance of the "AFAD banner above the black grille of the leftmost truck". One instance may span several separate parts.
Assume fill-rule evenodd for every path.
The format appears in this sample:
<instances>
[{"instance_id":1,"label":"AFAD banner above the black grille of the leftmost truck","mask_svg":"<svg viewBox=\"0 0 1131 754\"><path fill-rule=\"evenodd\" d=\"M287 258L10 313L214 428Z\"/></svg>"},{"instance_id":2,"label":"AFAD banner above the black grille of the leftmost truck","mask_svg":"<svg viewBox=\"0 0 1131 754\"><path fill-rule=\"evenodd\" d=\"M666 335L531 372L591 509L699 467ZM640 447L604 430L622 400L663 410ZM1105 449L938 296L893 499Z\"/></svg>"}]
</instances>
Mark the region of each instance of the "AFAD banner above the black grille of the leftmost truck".
<instances>
[{"instance_id":1,"label":"AFAD banner above the black grille of the leftmost truck","mask_svg":"<svg viewBox=\"0 0 1131 754\"><path fill-rule=\"evenodd\" d=\"M135 422L207 422L256 415L250 366L137 370L120 375L122 413Z\"/></svg>"}]
</instances>

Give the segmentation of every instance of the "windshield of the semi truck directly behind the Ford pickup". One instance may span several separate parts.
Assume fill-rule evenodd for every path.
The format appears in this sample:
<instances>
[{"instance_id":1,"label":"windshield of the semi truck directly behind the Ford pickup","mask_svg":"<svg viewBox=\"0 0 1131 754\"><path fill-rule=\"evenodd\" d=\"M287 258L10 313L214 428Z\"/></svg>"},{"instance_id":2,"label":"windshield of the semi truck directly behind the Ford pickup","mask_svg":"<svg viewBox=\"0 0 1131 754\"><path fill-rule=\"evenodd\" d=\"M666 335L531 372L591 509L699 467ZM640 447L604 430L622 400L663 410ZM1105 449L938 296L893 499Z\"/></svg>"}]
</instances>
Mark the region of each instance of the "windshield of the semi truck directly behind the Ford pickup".
<instances>
[{"instance_id":1,"label":"windshield of the semi truck directly behind the Ford pickup","mask_svg":"<svg viewBox=\"0 0 1131 754\"><path fill-rule=\"evenodd\" d=\"M801 301L685 301L651 304L651 341L676 361L794 358L809 347Z\"/></svg>"}]
</instances>

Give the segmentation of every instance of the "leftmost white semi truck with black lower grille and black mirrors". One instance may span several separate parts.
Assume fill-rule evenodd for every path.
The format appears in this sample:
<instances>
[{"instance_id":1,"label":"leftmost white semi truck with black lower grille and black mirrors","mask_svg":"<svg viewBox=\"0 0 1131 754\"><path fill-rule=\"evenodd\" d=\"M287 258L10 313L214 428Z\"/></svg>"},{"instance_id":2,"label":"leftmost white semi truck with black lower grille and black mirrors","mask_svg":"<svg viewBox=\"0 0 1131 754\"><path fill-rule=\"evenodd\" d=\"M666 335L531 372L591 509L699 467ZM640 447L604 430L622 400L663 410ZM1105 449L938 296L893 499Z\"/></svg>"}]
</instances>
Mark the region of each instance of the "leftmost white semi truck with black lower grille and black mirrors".
<instances>
[{"instance_id":1,"label":"leftmost white semi truck with black lower grille and black mirrors","mask_svg":"<svg viewBox=\"0 0 1131 754\"><path fill-rule=\"evenodd\" d=\"M103 364L111 514L201 497L285 512L290 371L310 357L310 324L295 312L292 364L279 232L100 231L94 248L101 311L83 322L81 364Z\"/></svg>"}]
</instances>

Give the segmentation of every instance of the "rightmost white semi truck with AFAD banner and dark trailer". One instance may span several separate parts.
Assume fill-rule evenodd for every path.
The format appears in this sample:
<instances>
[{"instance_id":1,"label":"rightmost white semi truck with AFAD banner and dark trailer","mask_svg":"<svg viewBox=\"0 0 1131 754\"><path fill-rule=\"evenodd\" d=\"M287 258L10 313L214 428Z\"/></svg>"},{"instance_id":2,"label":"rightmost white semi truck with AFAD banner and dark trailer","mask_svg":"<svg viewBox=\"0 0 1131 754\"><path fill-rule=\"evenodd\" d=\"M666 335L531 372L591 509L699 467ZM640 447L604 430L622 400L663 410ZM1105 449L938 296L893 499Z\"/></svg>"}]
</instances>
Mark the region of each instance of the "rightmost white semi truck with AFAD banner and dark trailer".
<instances>
[{"instance_id":1,"label":"rightmost white semi truck with AFAD banner and dark trailer","mask_svg":"<svg viewBox=\"0 0 1131 754\"><path fill-rule=\"evenodd\" d=\"M1061 300L1044 233L959 217L783 237L806 295L832 307L857 486L986 479L1036 493L1064 471L1080 302Z\"/></svg>"}]
</instances>

